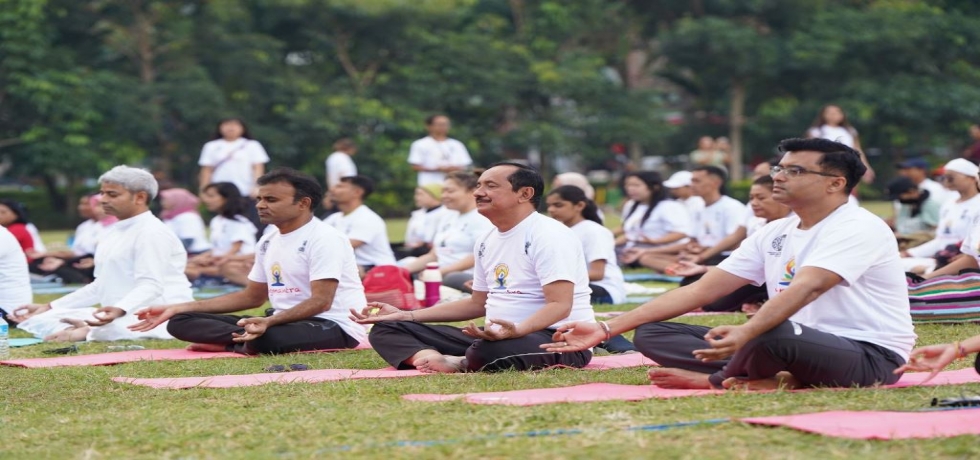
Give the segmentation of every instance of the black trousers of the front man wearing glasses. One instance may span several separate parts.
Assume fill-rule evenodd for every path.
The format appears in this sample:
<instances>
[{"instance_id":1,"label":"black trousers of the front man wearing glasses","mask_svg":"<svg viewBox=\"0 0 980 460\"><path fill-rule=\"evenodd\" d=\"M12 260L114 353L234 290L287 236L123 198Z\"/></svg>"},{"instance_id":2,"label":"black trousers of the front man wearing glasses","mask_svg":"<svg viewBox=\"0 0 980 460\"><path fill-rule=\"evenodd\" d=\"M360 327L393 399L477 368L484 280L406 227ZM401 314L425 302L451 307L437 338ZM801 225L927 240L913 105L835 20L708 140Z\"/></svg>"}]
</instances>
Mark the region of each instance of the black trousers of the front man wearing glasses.
<instances>
[{"instance_id":1,"label":"black trousers of the front man wearing glasses","mask_svg":"<svg viewBox=\"0 0 980 460\"><path fill-rule=\"evenodd\" d=\"M636 328L633 342L644 356L664 367L711 374L711 384L719 388L730 377L761 380L783 371L804 386L892 384L900 377L892 372L905 364L887 348L790 321L750 340L727 360L702 362L693 352L710 348L704 340L708 330L690 324L647 323Z\"/></svg>"}]
</instances>

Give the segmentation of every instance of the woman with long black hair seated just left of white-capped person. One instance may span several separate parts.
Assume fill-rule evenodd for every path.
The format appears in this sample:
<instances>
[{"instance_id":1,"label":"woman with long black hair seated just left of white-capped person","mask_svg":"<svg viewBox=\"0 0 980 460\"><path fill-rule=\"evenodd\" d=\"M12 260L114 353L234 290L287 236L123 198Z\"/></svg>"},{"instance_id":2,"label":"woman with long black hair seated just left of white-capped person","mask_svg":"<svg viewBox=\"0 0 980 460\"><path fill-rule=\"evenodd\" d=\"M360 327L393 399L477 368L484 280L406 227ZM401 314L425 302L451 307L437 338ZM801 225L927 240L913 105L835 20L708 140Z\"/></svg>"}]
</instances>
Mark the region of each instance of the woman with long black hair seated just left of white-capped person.
<instances>
[{"instance_id":1,"label":"woman with long black hair seated just left of white-capped person","mask_svg":"<svg viewBox=\"0 0 980 460\"><path fill-rule=\"evenodd\" d=\"M623 188L632 203L623 210L623 226L617 232L622 263L639 267L640 249L683 242L694 231L687 208L667 198L659 173L630 173Z\"/></svg>"}]
</instances>

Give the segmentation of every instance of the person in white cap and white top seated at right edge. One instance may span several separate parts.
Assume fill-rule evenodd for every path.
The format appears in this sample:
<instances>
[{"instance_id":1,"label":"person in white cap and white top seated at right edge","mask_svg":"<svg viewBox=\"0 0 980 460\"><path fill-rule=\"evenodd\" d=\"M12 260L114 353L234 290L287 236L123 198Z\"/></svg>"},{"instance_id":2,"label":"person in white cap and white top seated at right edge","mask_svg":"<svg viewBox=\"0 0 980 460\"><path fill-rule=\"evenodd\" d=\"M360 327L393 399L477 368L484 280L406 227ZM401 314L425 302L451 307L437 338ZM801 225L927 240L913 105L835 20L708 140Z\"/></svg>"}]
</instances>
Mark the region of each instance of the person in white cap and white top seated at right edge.
<instances>
[{"instance_id":1,"label":"person in white cap and white top seated at right edge","mask_svg":"<svg viewBox=\"0 0 980 460\"><path fill-rule=\"evenodd\" d=\"M980 218L980 193L977 165L957 158L943 167L943 183L959 197L946 201L939 208L939 225L936 237L916 247L901 252L902 268L907 272L928 275L936 268L950 262L959 254L960 242ZM952 248L950 248L952 246Z\"/></svg>"}]
</instances>

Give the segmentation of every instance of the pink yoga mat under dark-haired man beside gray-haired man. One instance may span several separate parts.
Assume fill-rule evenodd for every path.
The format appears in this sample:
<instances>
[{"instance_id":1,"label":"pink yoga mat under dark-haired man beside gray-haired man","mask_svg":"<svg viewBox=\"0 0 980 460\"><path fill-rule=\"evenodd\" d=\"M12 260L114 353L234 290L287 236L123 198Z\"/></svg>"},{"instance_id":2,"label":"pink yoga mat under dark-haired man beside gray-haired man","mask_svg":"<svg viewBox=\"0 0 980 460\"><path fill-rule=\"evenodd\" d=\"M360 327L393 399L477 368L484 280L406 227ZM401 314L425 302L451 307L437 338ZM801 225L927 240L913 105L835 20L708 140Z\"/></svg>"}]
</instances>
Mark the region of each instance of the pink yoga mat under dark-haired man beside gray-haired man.
<instances>
[{"instance_id":1,"label":"pink yoga mat under dark-haired man beside gray-haired man","mask_svg":"<svg viewBox=\"0 0 980 460\"><path fill-rule=\"evenodd\" d=\"M369 350L370 345L358 345L355 350ZM320 350L308 353L321 353L341 350ZM61 366L108 366L135 361L182 361L187 359L247 358L248 356L231 352L190 351L184 348L164 350L133 350L93 355L58 356L56 358L10 359L0 361L5 366L17 367L61 367Z\"/></svg>"}]
</instances>

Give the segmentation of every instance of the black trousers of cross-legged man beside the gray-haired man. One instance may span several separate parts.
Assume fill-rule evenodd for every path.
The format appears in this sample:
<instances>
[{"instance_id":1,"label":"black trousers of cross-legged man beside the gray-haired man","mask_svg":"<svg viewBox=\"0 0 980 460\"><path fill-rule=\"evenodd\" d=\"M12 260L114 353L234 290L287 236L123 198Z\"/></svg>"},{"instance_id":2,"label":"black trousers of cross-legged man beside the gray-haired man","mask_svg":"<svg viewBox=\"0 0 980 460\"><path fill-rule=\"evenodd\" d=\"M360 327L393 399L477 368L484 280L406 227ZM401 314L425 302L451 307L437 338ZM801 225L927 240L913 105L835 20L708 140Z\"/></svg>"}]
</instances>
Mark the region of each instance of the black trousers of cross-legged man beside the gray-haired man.
<instances>
[{"instance_id":1,"label":"black trousers of cross-legged man beside the gray-haired man","mask_svg":"<svg viewBox=\"0 0 980 460\"><path fill-rule=\"evenodd\" d=\"M228 351L247 355L337 350L354 348L358 344L357 340L347 335L339 324L323 318L308 318L272 326L255 340L234 342L232 333L245 332L245 329L237 324L242 318L249 317L180 313L170 318L167 332L180 340L224 345Z\"/></svg>"}]
</instances>

